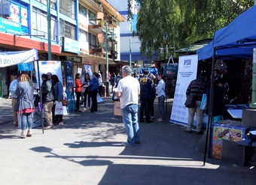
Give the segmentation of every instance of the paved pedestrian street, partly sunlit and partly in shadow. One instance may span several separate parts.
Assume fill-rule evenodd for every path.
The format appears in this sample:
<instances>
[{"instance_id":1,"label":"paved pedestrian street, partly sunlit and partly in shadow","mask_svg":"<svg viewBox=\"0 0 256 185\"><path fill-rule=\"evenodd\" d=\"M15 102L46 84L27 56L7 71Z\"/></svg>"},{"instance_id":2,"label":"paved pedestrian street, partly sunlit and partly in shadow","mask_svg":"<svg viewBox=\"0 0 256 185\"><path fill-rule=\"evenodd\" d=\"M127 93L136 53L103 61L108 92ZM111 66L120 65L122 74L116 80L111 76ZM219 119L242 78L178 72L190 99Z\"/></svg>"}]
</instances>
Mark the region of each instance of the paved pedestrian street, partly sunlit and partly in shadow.
<instances>
[{"instance_id":1,"label":"paved pedestrian street, partly sunlit and partly in shadow","mask_svg":"<svg viewBox=\"0 0 256 185\"><path fill-rule=\"evenodd\" d=\"M18 139L11 100L1 99L0 184L256 184L254 166L208 157L203 166L202 135L169 123L172 100L165 121L140 123L141 143L123 147L122 118L114 115L111 97L102 99L98 112L64 116L63 125L44 133L37 127L26 139ZM159 118L157 100L154 109Z\"/></svg>"}]
</instances>

